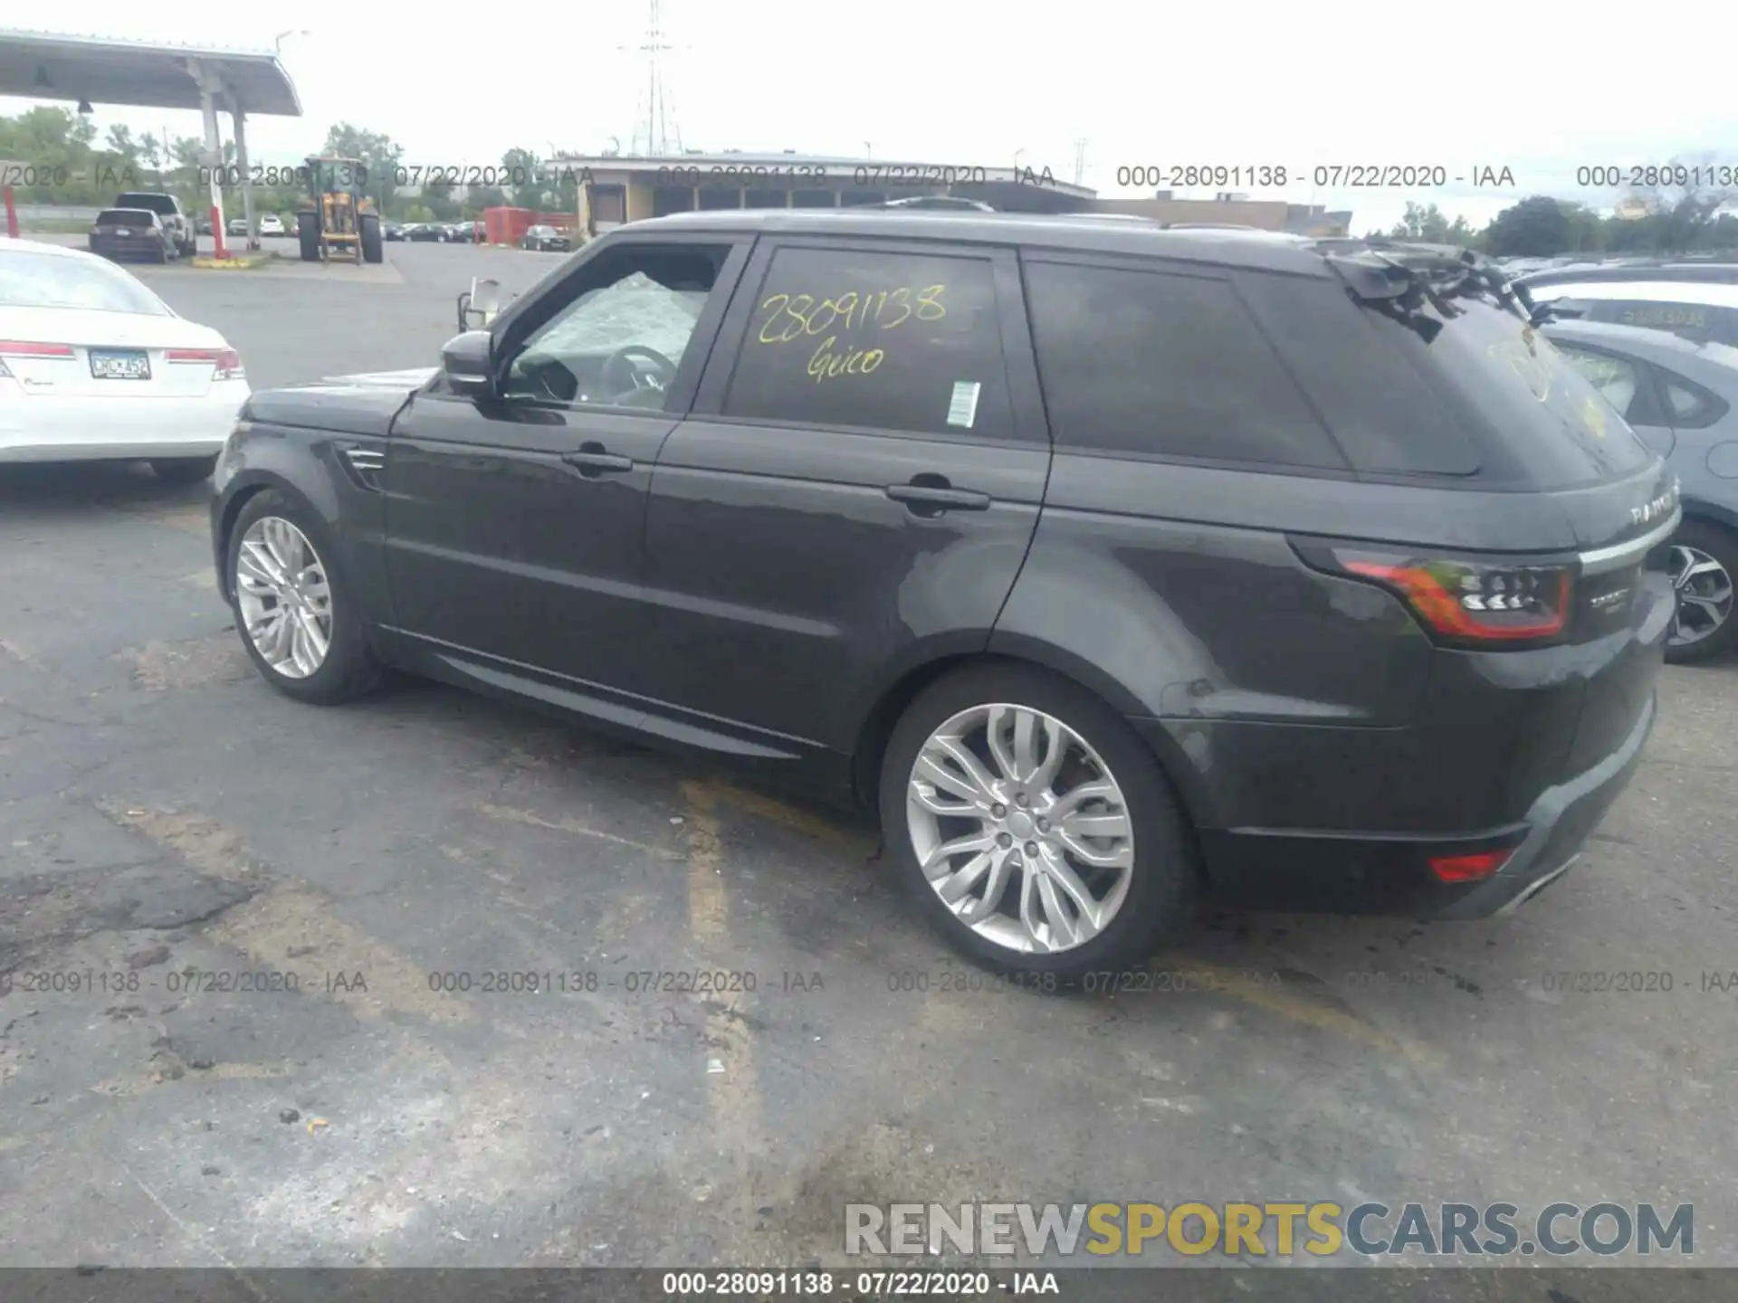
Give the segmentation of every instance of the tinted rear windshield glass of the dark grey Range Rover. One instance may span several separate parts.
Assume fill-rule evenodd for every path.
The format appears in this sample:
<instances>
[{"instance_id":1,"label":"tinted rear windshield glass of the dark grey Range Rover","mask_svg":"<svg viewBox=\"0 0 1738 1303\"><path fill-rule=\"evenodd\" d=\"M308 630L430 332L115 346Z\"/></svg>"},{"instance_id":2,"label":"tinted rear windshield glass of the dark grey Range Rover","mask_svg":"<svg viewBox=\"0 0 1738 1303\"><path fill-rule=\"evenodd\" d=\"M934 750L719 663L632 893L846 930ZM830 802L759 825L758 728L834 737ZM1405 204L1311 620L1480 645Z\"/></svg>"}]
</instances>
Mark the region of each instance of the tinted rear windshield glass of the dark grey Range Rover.
<instances>
[{"instance_id":1,"label":"tinted rear windshield glass of the dark grey Range Rover","mask_svg":"<svg viewBox=\"0 0 1738 1303\"><path fill-rule=\"evenodd\" d=\"M1536 327L1484 294L1425 297L1410 311L1364 302L1363 314L1484 453L1481 486L1569 488L1653 457Z\"/></svg>"}]
</instances>

